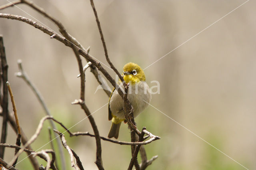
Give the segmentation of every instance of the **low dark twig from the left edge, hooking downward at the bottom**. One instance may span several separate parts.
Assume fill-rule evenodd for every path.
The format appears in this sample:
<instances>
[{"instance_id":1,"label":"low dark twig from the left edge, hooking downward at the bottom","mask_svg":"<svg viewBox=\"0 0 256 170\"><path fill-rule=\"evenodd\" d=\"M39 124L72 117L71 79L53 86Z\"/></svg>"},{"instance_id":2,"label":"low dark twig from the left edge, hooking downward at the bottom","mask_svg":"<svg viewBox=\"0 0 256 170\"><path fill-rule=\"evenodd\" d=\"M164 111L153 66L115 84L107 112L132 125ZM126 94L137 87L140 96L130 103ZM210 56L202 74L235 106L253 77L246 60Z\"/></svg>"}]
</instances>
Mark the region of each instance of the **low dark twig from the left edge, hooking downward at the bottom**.
<instances>
[{"instance_id":1,"label":"low dark twig from the left edge, hooking downward at the bottom","mask_svg":"<svg viewBox=\"0 0 256 170\"><path fill-rule=\"evenodd\" d=\"M6 143L0 143L0 146L8 147L8 148L15 148L15 149L22 148L21 146L6 144ZM34 150L25 148L24 152L27 152L28 154L30 154L32 156L32 153L34 153ZM50 163L50 165L51 165L50 168L53 170L57 170L57 168L54 166L54 161L56 159L55 152L51 149L46 149L46 150L44 150L44 152L52 154L52 161ZM47 158L43 154L38 153L36 155L39 156L40 158L42 158L43 160L47 161Z\"/></svg>"}]
</instances>

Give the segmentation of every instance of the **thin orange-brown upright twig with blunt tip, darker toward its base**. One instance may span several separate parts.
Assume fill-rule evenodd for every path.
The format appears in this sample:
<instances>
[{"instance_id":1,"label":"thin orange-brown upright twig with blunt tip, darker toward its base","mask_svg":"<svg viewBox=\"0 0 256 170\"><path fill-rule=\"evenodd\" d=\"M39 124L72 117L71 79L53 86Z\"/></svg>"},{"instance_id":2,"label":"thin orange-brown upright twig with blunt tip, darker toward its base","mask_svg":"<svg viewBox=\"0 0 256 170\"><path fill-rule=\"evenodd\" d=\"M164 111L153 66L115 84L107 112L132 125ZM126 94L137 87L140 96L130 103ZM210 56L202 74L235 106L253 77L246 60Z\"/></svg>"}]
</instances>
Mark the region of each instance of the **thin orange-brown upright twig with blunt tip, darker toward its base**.
<instances>
[{"instance_id":1,"label":"thin orange-brown upright twig with blunt tip, darker toward its base","mask_svg":"<svg viewBox=\"0 0 256 170\"><path fill-rule=\"evenodd\" d=\"M15 105L15 101L14 101L14 97L13 97L13 94L12 94L12 89L11 89L11 86L10 86L9 81L6 82L6 85L7 85L7 87L8 87L8 91L9 91L9 94L10 94L10 97L11 97L12 108L13 108L14 117L15 117L17 129L18 129L18 136L17 136L17 139L16 139L16 145L17 145L17 146L20 146L20 145L21 145L21 129L20 129L20 123L19 123L19 119L18 119L17 109L16 109L16 105ZM19 149L16 148L14 154L16 154L18 151L19 151ZM17 158L17 159L15 160L15 162L12 164L12 166L13 166L14 168L15 168L15 165L16 165L16 163L17 163L17 160L18 160L18 158Z\"/></svg>"}]
</instances>

